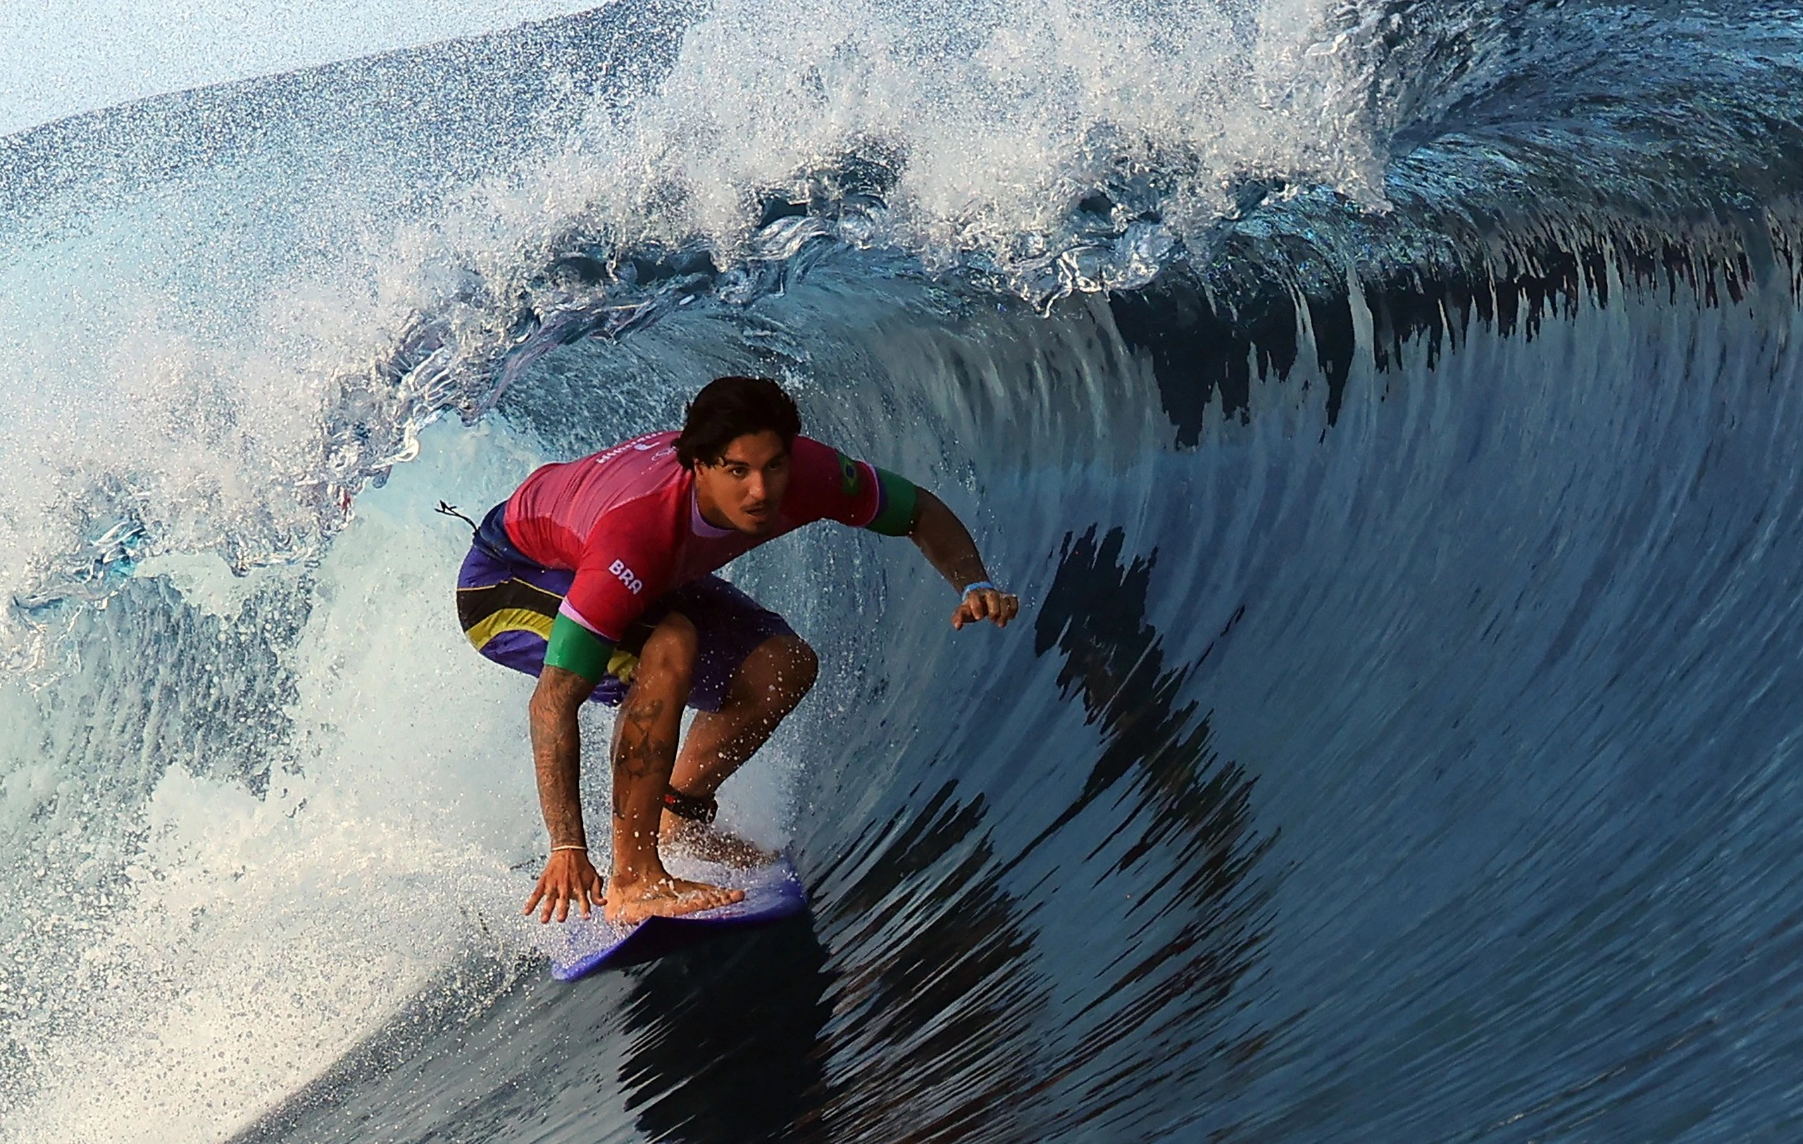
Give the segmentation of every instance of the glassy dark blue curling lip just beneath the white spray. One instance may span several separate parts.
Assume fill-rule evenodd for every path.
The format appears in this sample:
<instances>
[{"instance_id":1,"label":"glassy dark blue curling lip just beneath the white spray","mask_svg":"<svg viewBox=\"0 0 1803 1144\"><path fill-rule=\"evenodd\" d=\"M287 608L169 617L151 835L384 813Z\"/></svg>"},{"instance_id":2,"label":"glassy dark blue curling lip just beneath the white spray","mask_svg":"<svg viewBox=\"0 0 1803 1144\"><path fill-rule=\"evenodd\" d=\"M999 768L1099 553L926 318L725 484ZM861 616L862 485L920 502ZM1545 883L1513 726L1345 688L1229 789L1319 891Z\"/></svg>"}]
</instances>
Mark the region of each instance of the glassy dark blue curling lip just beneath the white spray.
<instances>
[{"instance_id":1,"label":"glassy dark blue curling lip just beneath the white spray","mask_svg":"<svg viewBox=\"0 0 1803 1144\"><path fill-rule=\"evenodd\" d=\"M1049 225L945 245L943 232L923 232L909 211L898 220L891 207L907 151L864 137L831 162L795 171L786 187L757 189L732 241L719 234L635 241L629 229L577 223L545 241L541 261L514 267L505 288L472 292L492 337L447 353L449 330L467 322L451 310L422 313L377 373L395 393L418 395L420 409L476 420L559 344L618 339L694 303L743 310L824 259L864 254L871 274L921 274L1042 313L1084 294L1125 299L1118 312L1130 312L1154 283L1163 283L1154 295L1165 288L1203 295L1219 326L1219 346L1204 353L1235 391L1231 409L1244 407L1237 395L1246 369L1237 359L1249 355L1258 375L1273 368L1287 375L1305 337L1329 373L1332 420L1358 340L1354 294L1385 299L1368 348L1383 368L1415 335L1428 339L1430 357L1442 335L1473 317L1533 335L1542 315L1569 312L1579 295L1606 304L1612 288L1664 290L1675 299L1682 285L1702 304L1738 303L1756 285L1803 292L1803 159L1781 128L1803 119L1790 83L1803 68L1794 29L1781 18L1749 20L1738 52L1698 52L1661 74L1653 94L1682 106L1733 70L1763 119L1749 124L1738 110L1713 121L1668 112L1664 133L1650 141L1634 112L1581 86L1540 92L1538 103L1522 106L1509 68L1524 61L1486 41L1507 38L1496 13L1471 18L1459 7L1350 5L1331 22L1340 27L1332 47L1365 61L1359 90L1387 97L1370 123L1385 139L1372 153L1396 151L1376 184L1381 191L1359 191L1358 177L1349 193L1251 166L1204 189L1204 200L1222 205L1197 214L1195 157L1139 150L1102 132L1105 159L1089 160L1091 169L1114 175L1073 184L1062 211L1044 202ZM1397 22L1423 34L1394 36ZM1370 47L1379 27L1403 47L1381 54ZM1646 29L1644 16L1612 13L1554 49L1506 47L1540 67L1551 56L1583 74L1617 56L1617 36ZM1430 88L1426 77L1457 81ZM1536 115L1563 99L1588 99L1597 110L1588 123L1534 137ZM1724 171L1760 175L1742 182ZM501 297L512 303L496 310ZM1181 438L1194 440L1195 416L1179 416Z\"/></svg>"}]
</instances>

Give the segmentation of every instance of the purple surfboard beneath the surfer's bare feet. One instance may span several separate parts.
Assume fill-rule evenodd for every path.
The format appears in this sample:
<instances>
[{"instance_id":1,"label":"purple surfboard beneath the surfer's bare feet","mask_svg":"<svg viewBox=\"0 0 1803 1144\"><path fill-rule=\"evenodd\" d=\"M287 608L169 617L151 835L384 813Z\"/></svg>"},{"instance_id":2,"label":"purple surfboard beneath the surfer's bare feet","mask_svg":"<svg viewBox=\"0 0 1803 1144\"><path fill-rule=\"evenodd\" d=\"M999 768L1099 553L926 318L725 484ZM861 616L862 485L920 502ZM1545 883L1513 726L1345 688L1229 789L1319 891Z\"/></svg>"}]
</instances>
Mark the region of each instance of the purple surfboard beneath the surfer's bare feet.
<instances>
[{"instance_id":1,"label":"purple surfboard beneath the surfer's bare feet","mask_svg":"<svg viewBox=\"0 0 1803 1144\"><path fill-rule=\"evenodd\" d=\"M745 890L745 899L682 917L651 917L636 926L615 924L595 910L564 922L528 924L534 944L552 958L552 976L573 982L600 969L622 969L660 958L721 933L768 926L808 908L808 890L788 856L766 867L739 870L703 861L669 861L671 874ZM534 879L535 881L535 879Z\"/></svg>"}]
</instances>

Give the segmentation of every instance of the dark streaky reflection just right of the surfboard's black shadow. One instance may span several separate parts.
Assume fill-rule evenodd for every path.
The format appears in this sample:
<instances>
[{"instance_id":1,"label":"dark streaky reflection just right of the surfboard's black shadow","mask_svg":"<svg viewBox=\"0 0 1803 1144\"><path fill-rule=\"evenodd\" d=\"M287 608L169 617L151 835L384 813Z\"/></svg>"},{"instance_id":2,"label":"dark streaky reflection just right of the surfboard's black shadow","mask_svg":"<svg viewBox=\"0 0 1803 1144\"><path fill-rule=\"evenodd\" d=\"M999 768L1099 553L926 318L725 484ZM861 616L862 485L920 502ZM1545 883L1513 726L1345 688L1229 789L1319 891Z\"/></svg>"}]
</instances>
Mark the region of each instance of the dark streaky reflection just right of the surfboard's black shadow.
<instances>
[{"instance_id":1,"label":"dark streaky reflection just right of the surfboard's black shadow","mask_svg":"<svg viewBox=\"0 0 1803 1144\"><path fill-rule=\"evenodd\" d=\"M979 831L983 796L956 789L880 831L880 856L831 903L837 1067L799 1140L1035 1139L1019 1099L1051 1068L1035 1027L1053 982Z\"/></svg>"}]
</instances>

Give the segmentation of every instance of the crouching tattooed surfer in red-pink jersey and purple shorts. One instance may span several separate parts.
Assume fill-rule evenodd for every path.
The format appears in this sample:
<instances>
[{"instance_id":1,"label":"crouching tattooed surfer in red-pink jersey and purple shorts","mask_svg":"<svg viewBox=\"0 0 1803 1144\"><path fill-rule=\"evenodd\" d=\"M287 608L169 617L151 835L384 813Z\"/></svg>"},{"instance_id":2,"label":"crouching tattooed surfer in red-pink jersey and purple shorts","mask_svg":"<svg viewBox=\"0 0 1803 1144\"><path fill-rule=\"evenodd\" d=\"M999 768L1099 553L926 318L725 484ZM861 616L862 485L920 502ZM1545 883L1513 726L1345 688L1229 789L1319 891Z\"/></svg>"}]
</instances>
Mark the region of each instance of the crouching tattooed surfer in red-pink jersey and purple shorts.
<instances>
[{"instance_id":1,"label":"crouching tattooed surfer in red-pink jersey and purple shorts","mask_svg":"<svg viewBox=\"0 0 1803 1144\"><path fill-rule=\"evenodd\" d=\"M545 465L476 526L458 622L483 656L539 679L532 758L552 850L525 913L548 922L606 904L609 921L638 922L743 897L674 877L658 841L712 822L714 791L813 686L808 641L712 575L813 521L914 540L957 589L956 629L1006 627L1020 607L950 508L801 436L770 378L716 378L682 432ZM618 708L606 890L579 798L584 701ZM683 706L696 717L678 751Z\"/></svg>"}]
</instances>

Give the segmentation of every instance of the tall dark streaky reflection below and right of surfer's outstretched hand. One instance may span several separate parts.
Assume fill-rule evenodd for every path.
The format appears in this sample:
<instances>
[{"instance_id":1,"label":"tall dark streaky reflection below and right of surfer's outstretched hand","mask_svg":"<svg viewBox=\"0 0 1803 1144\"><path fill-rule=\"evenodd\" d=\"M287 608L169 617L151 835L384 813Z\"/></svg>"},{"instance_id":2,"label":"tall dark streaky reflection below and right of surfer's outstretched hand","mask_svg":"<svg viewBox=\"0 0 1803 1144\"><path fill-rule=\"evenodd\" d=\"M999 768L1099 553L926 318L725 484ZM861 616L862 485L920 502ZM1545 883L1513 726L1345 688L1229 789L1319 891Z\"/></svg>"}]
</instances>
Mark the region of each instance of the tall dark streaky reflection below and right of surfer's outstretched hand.
<instances>
[{"instance_id":1,"label":"tall dark streaky reflection below and right of surfer's outstretched hand","mask_svg":"<svg viewBox=\"0 0 1803 1144\"><path fill-rule=\"evenodd\" d=\"M1096 885L1130 890L1127 913L1143 940L1098 967L1105 984L1082 1014L1103 1018L1105 1036L1082 1043L1071 1061L1093 1061L1103 1074L1085 1085L1073 1113L1116 1131L1194 1115L1208 1095L1197 1086L1204 1077L1231 1083L1266 1045L1268 1034L1224 1034L1210 1018L1255 966L1266 894L1249 874L1275 840L1253 831L1253 778L1210 746L1210 717L1199 717L1195 703L1177 704L1244 607L1194 663L1167 670L1163 638L1145 622L1158 553L1123 560L1123 542L1120 528L1102 540L1094 528L1066 535L1035 623L1035 650L1064 652L1058 686L1082 699L1105 746L1078 798L1026 850L1053 836L1071 850L1078 836L1093 838L1085 863L1093 865L1121 834L1136 832ZM1141 793L1123 800L1127 818L1082 829L1100 796L1129 776ZM1158 1086L1172 1094L1168 1104L1147 1099Z\"/></svg>"}]
</instances>

